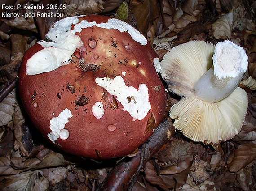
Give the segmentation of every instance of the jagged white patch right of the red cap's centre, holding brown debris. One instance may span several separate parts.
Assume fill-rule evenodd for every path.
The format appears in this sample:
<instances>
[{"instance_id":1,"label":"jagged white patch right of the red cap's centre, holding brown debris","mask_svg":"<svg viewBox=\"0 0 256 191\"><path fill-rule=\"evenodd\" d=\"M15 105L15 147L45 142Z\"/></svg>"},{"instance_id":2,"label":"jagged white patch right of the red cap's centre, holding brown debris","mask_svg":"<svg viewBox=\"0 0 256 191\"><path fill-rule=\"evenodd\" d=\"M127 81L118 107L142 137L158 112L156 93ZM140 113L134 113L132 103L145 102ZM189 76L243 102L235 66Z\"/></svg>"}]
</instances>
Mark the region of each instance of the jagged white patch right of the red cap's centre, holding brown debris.
<instances>
[{"instance_id":1,"label":"jagged white patch right of the red cap's centre, holding brown debris","mask_svg":"<svg viewBox=\"0 0 256 191\"><path fill-rule=\"evenodd\" d=\"M145 84L139 84L137 90L133 86L125 85L122 76L116 76L114 79L96 78L95 82L110 94L117 96L116 99L124 106L124 110L134 119L144 119L151 109L148 88Z\"/></svg>"}]
</instances>

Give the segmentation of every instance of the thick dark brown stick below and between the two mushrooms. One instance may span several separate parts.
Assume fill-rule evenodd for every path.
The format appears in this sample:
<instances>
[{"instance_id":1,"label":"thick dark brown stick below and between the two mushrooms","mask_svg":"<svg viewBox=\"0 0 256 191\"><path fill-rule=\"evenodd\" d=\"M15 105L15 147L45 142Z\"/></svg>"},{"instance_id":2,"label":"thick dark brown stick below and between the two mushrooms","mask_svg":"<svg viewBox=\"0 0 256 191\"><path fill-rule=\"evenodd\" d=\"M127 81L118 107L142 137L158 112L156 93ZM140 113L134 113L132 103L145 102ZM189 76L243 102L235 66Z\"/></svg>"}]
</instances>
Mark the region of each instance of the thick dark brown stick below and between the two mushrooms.
<instances>
[{"instance_id":1,"label":"thick dark brown stick below and between the two mushrooms","mask_svg":"<svg viewBox=\"0 0 256 191\"><path fill-rule=\"evenodd\" d=\"M140 170L173 134L172 122L165 119L130 161L120 162L113 168L97 191L132 190Z\"/></svg>"}]
</instances>

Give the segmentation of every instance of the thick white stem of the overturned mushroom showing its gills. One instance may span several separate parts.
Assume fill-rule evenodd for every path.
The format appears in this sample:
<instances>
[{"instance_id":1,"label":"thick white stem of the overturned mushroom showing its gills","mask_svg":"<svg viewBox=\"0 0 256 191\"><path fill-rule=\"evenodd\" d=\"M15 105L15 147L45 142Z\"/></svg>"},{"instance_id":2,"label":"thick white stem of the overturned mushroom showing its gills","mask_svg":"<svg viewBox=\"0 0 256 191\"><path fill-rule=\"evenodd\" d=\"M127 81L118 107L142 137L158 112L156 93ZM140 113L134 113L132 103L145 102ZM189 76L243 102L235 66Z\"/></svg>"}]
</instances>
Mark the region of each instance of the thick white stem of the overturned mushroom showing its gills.
<instances>
[{"instance_id":1,"label":"thick white stem of the overturned mushroom showing its gills","mask_svg":"<svg viewBox=\"0 0 256 191\"><path fill-rule=\"evenodd\" d=\"M231 41L219 42L212 57L213 66L196 82L195 95L215 103L230 95L239 85L247 69L247 55Z\"/></svg>"}]
</instances>

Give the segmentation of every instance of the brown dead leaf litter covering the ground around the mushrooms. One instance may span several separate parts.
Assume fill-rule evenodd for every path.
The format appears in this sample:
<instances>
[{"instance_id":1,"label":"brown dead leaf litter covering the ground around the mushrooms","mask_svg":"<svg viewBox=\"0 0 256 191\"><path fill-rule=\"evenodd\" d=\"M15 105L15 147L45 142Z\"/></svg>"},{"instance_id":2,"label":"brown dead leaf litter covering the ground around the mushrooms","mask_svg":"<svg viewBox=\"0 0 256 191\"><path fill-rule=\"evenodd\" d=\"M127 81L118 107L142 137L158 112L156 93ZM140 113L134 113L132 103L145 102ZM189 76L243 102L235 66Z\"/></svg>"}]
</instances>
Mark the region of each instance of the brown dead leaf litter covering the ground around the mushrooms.
<instances>
[{"instance_id":1,"label":"brown dead leaf litter covering the ground around the mushrooms","mask_svg":"<svg viewBox=\"0 0 256 191\"><path fill-rule=\"evenodd\" d=\"M115 17L120 0L12 0L4 4L62 4L67 16L102 14ZM245 48L248 70L241 84L248 112L241 132L215 149L176 132L139 172L133 191L256 190L256 3L252 0L129 0L127 22L141 31L159 58L190 40L231 40ZM21 8L17 13L26 13ZM30 13L39 10L30 10ZM13 11L15 12L15 11ZM26 49L44 39L61 18L1 18L0 90L18 75ZM250 85L248 85L250 84ZM0 103L0 190L95 191L116 163L63 153L48 144L23 111L14 89ZM180 98L169 93L166 116Z\"/></svg>"}]
</instances>

